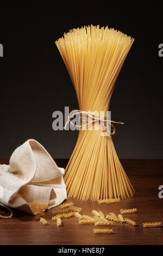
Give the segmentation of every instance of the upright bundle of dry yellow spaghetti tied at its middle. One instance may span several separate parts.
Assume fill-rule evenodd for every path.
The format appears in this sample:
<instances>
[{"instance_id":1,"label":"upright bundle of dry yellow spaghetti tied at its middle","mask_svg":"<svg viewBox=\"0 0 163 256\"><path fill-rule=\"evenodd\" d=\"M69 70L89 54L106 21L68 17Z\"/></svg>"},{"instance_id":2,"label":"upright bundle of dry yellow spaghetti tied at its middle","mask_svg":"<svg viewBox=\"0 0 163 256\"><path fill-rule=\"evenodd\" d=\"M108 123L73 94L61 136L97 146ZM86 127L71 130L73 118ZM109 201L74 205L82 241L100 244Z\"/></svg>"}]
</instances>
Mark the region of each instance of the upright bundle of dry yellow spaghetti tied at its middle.
<instances>
[{"instance_id":1,"label":"upright bundle of dry yellow spaghetti tied at its middle","mask_svg":"<svg viewBox=\"0 0 163 256\"><path fill-rule=\"evenodd\" d=\"M55 42L77 93L79 109L109 109L115 82L134 39L108 27L72 29ZM134 189L116 154L111 136L99 124L79 131L65 175L67 193L82 200L126 198Z\"/></svg>"}]
</instances>

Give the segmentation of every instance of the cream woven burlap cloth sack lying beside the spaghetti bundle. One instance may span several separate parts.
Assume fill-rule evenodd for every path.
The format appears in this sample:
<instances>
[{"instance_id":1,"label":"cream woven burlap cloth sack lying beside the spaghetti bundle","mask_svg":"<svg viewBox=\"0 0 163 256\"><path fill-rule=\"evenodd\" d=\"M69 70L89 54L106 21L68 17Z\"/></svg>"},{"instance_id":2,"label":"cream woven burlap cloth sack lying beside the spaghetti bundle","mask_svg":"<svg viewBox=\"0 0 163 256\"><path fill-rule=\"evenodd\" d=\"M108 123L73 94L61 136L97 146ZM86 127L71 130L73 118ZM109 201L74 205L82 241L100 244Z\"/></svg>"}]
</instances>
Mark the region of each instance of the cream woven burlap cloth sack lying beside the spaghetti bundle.
<instances>
[{"instance_id":1,"label":"cream woven burlap cloth sack lying beside the spaghetti bundle","mask_svg":"<svg viewBox=\"0 0 163 256\"><path fill-rule=\"evenodd\" d=\"M29 214L34 214L33 202L57 206L67 198L64 172L39 142L29 139L11 155L9 166L0 165L0 203Z\"/></svg>"}]
</instances>

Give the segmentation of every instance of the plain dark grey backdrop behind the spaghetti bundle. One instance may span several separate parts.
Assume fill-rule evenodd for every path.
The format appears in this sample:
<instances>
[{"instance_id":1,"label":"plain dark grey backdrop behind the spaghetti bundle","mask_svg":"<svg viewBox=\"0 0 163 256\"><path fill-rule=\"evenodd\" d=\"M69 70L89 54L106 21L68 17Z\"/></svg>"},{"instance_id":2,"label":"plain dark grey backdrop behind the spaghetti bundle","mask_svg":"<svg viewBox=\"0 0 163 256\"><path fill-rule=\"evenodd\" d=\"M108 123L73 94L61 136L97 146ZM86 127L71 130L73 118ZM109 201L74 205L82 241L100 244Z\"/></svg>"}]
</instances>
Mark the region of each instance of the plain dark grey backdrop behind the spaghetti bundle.
<instances>
[{"instance_id":1,"label":"plain dark grey backdrop behind the spaghetti bundle","mask_svg":"<svg viewBox=\"0 0 163 256\"><path fill-rule=\"evenodd\" d=\"M135 1L136 2L136 1ZM135 38L112 95L113 137L120 159L162 158L162 7L148 4L15 5L0 10L0 157L28 138L56 158L69 158L77 131L53 131L52 113L78 108L76 93L54 41L74 27L99 24Z\"/></svg>"}]
</instances>

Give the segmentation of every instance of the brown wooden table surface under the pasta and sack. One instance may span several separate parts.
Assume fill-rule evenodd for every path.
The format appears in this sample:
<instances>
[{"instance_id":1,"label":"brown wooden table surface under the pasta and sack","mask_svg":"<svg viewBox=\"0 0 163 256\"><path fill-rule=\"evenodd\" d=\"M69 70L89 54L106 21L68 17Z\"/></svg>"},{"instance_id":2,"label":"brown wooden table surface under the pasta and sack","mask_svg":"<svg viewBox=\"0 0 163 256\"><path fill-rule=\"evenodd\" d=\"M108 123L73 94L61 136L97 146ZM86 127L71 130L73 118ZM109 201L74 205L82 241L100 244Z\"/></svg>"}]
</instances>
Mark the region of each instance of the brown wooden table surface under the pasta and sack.
<instances>
[{"instance_id":1,"label":"brown wooden table surface under the pasta and sack","mask_svg":"<svg viewBox=\"0 0 163 256\"><path fill-rule=\"evenodd\" d=\"M1 159L1 164L8 160ZM65 167L67 160L57 160ZM137 208L137 213L125 215L136 221L137 227L126 223L114 223L114 234L93 234L93 224L78 224L76 217L64 219L64 226L57 227L51 220L52 209L45 218L48 225L35 221L34 216L14 210L11 219L0 218L0 245L163 245L163 199L158 197L158 187L163 185L163 160L122 160L122 165L135 188L134 196L117 204L98 204L91 200L82 202L68 199L74 205L82 207L82 214L91 215L91 211L102 210L104 214L120 209ZM3 212L0 209L0 214ZM143 228L143 222L159 222L162 227Z\"/></svg>"}]
</instances>

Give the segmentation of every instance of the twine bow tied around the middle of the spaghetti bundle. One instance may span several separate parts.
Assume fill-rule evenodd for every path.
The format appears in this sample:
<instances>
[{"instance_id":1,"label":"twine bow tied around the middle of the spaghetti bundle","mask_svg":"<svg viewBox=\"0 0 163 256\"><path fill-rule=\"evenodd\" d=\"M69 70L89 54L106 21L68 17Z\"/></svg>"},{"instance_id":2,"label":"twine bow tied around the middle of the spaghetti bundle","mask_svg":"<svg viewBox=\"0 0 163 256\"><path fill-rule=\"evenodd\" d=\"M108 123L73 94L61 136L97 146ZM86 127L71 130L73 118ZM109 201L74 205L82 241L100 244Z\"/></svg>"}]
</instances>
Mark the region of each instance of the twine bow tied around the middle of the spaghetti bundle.
<instances>
[{"instance_id":1,"label":"twine bow tied around the middle of the spaghetti bundle","mask_svg":"<svg viewBox=\"0 0 163 256\"><path fill-rule=\"evenodd\" d=\"M82 118L80 117L80 120L82 119L82 124L77 125L77 124L72 123L71 119L74 118L74 115L80 115L80 114L82 114ZM87 118L91 118L91 120L87 120ZM92 123L95 123L96 121L100 122L102 130L105 131L106 136L115 134L116 129L115 129L115 126L112 123L114 123L114 124L124 124L122 122L109 120L107 117L100 118L95 113L92 113L92 112L89 112L89 111L82 111L82 110L79 110L79 109L74 109L68 115L68 119L67 119L67 122L64 126L64 130L66 129L68 123L70 123L70 124L72 124L73 126L76 126L76 127L84 127L86 125L90 125ZM105 124L106 124L106 126L105 126ZM110 132L110 130L108 131L107 127L108 127L109 124L113 128L112 132Z\"/></svg>"}]
</instances>

